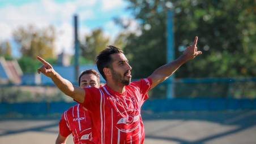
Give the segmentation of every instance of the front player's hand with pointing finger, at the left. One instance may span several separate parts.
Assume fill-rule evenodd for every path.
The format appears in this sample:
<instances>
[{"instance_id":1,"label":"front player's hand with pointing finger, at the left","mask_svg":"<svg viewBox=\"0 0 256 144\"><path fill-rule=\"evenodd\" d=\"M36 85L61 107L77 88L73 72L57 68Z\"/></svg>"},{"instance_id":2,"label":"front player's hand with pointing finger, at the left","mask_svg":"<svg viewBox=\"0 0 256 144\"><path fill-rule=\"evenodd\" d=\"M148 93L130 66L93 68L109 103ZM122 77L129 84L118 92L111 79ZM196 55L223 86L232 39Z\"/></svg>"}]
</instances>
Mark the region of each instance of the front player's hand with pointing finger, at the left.
<instances>
[{"instance_id":1,"label":"front player's hand with pointing finger, at the left","mask_svg":"<svg viewBox=\"0 0 256 144\"><path fill-rule=\"evenodd\" d=\"M43 73L47 77L53 77L56 72L54 71L52 65L40 58L40 56L37 56L37 59L43 64L37 69L37 73Z\"/></svg>"}]
</instances>

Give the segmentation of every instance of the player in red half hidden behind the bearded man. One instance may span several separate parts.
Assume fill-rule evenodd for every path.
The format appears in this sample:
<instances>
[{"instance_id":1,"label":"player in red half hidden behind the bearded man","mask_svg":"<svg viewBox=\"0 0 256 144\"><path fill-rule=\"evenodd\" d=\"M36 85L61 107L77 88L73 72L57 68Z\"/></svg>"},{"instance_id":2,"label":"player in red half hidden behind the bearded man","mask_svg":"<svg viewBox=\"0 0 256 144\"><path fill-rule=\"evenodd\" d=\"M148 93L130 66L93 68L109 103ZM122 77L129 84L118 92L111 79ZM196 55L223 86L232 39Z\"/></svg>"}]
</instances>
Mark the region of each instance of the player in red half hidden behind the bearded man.
<instances>
[{"instance_id":1,"label":"player in red half hidden behind the bearded man","mask_svg":"<svg viewBox=\"0 0 256 144\"><path fill-rule=\"evenodd\" d=\"M100 88L100 75L93 69L83 71L78 78L80 88ZM66 143L67 137L72 133L73 141L79 143L94 143L92 141L92 121L89 112L76 104L65 111L59 121L59 134L56 144Z\"/></svg>"}]
</instances>

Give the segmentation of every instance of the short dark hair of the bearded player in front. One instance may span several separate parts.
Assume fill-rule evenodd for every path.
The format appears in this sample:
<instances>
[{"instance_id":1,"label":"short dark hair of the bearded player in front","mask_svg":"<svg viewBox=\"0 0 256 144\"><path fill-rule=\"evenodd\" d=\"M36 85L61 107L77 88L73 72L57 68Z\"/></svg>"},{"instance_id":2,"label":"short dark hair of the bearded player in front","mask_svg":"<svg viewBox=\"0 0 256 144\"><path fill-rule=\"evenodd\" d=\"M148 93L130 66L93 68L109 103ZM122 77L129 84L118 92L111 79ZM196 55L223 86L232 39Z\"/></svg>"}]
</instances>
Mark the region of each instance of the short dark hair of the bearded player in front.
<instances>
[{"instance_id":1,"label":"short dark hair of the bearded player in front","mask_svg":"<svg viewBox=\"0 0 256 144\"><path fill-rule=\"evenodd\" d=\"M96 58L96 66L103 78L106 80L106 76L103 72L103 68L110 68L112 63L112 58L110 55L123 53L121 49L118 49L115 46L109 45L106 46L106 49L101 51L100 54Z\"/></svg>"}]
</instances>

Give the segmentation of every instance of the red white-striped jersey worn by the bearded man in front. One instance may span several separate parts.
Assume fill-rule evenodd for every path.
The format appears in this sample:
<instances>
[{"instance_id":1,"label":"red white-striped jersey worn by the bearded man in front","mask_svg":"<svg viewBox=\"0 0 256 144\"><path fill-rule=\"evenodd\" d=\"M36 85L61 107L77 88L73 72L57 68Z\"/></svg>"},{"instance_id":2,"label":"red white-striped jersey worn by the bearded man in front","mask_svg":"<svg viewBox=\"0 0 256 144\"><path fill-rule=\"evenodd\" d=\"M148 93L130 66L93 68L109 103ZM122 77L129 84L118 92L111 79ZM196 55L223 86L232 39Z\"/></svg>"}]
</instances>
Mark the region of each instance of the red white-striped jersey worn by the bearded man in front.
<instances>
[{"instance_id":1,"label":"red white-striped jersey worn by the bearded man in front","mask_svg":"<svg viewBox=\"0 0 256 144\"><path fill-rule=\"evenodd\" d=\"M131 82L120 94L107 85L84 88L83 106L91 111L92 136L95 143L143 143L144 126L140 109L150 90L152 80Z\"/></svg>"}]
</instances>

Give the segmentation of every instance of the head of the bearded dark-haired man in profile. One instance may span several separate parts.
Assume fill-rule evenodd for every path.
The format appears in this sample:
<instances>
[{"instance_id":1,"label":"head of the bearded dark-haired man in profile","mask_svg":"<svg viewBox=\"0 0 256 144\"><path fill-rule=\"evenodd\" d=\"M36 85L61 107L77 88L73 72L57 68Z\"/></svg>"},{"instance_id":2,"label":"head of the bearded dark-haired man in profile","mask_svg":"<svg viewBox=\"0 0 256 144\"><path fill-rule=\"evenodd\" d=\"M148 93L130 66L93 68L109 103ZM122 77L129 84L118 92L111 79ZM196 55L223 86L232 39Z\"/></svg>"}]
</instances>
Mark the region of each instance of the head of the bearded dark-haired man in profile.
<instances>
[{"instance_id":1,"label":"head of the bearded dark-haired man in profile","mask_svg":"<svg viewBox=\"0 0 256 144\"><path fill-rule=\"evenodd\" d=\"M113 80L123 85L131 82L131 66L123 51L115 46L106 46L96 58L96 65L106 81Z\"/></svg>"}]
</instances>

